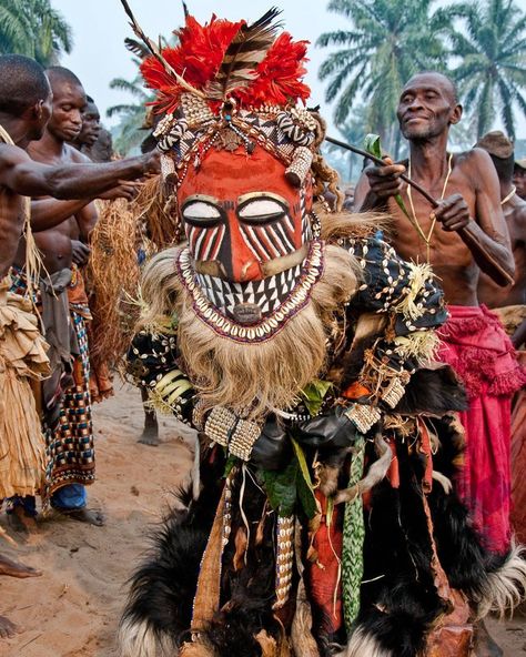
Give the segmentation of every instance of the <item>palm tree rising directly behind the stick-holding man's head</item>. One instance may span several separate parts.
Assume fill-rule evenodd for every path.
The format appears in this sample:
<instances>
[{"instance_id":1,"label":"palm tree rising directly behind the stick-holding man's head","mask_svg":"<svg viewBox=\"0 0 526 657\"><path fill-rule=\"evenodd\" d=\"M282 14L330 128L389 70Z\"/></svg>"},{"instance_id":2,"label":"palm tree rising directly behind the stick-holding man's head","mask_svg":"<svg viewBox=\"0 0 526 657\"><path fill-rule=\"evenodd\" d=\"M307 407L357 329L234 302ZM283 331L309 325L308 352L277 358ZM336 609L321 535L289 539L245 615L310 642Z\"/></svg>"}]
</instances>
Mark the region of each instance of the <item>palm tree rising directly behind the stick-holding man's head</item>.
<instances>
[{"instance_id":1,"label":"palm tree rising directly behind the stick-holding man's head","mask_svg":"<svg viewBox=\"0 0 526 657\"><path fill-rule=\"evenodd\" d=\"M348 30L326 32L317 46L341 47L320 68L330 80L326 101L336 102L336 125L356 103L368 105L366 131L377 132L386 149L398 150L395 110L403 84L422 70L441 70L443 37L452 29L454 8L436 9L436 0L331 0L327 9L350 20ZM396 155L396 153L395 153Z\"/></svg>"}]
</instances>

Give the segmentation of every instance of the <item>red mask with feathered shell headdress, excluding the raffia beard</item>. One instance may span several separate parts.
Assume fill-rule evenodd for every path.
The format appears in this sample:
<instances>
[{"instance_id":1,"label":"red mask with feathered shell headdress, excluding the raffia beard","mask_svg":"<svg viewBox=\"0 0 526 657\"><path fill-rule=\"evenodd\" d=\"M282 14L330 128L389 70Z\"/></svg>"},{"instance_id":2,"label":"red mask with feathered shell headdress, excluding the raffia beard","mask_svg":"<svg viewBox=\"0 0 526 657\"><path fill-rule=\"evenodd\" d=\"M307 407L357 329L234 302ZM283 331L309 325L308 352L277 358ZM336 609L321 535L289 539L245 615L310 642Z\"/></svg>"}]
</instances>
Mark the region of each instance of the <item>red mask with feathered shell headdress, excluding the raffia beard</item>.
<instances>
[{"instance_id":1,"label":"red mask with feathered shell headdress, excluding the raffia beard","mask_svg":"<svg viewBox=\"0 0 526 657\"><path fill-rule=\"evenodd\" d=\"M311 173L320 123L296 108L308 95L306 42L276 38L275 16L188 17L180 46L141 69L165 112L154 134L188 240L178 267L196 313L234 338L244 326L261 340L280 330L323 269Z\"/></svg>"}]
</instances>

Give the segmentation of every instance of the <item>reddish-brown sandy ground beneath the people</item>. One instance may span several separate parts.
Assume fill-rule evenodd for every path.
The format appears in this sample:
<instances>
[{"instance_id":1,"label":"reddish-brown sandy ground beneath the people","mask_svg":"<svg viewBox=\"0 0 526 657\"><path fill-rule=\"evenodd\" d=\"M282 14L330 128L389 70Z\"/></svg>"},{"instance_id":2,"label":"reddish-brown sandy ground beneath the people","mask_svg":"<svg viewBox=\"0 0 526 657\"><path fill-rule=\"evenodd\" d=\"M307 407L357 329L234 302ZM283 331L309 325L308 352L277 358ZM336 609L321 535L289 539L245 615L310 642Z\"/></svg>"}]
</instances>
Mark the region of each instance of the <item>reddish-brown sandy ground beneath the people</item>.
<instances>
[{"instance_id":1,"label":"reddish-brown sandy ground beneath the people","mask_svg":"<svg viewBox=\"0 0 526 657\"><path fill-rule=\"evenodd\" d=\"M98 481L90 506L107 514L105 527L49 518L19 547L0 549L43 572L34 579L0 578L0 614L20 634L0 641L1 657L117 657L115 633L125 582L148 547L171 491L191 467L192 438L181 425L161 420L159 447L136 444L142 429L139 393L124 386L94 408ZM183 427L184 431L184 427ZM0 520L9 529L6 516ZM526 623L490 623L505 657L526 655ZM235 656L232 656L235 657Z\"/></svg>"}]
</instances>

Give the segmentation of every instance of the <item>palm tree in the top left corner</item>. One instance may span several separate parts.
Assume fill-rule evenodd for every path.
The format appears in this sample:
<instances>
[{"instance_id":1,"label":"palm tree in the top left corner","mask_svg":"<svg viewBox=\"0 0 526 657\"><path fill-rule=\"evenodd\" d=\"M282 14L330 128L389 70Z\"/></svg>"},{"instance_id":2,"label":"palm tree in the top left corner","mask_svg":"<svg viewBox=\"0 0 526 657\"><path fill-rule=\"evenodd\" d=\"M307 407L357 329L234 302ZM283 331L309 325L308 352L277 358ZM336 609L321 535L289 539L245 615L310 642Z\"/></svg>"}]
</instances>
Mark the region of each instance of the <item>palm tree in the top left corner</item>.
<instances>
[{"instance_id":1,"label":"palm tree in the top left corner","mask_svg":"<svg viewBox=\"0 0 526 657\"><path fill-rule=\"evenodd\" d=\"M71 28L50 0L0 0L1 53L26 54L48 67L71 48Z\"/></svg>"}]
</instances>

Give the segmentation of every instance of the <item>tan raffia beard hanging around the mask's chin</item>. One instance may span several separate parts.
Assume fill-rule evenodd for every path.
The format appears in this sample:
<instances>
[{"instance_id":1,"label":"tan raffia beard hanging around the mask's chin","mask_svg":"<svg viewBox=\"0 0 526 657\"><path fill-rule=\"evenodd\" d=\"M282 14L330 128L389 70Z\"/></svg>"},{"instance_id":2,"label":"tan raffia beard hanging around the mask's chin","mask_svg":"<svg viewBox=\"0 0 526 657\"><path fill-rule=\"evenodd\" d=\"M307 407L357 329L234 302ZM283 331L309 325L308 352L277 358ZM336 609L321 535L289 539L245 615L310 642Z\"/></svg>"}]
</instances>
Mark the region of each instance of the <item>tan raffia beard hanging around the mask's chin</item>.
<instances>
[{"instance_id":1,"label":"tan raffia beard hanging around the mask's chin","mask_svg":"<svg viewBox=\"0 0 526 657\"><path fill-rule=\"evenodd\" d=\"M175 249L153 259L142 293L149 303L143 325L175 311L178 344L185 370L206 408L227 406L261 420L271 411L292 408L300 392L323 371L327 330L358 286L358 265L340 246L325 245L325 265L306 305L273 336L240 343L218 335L194 312L178 279Z\"/></svg>"}]
</instances>

